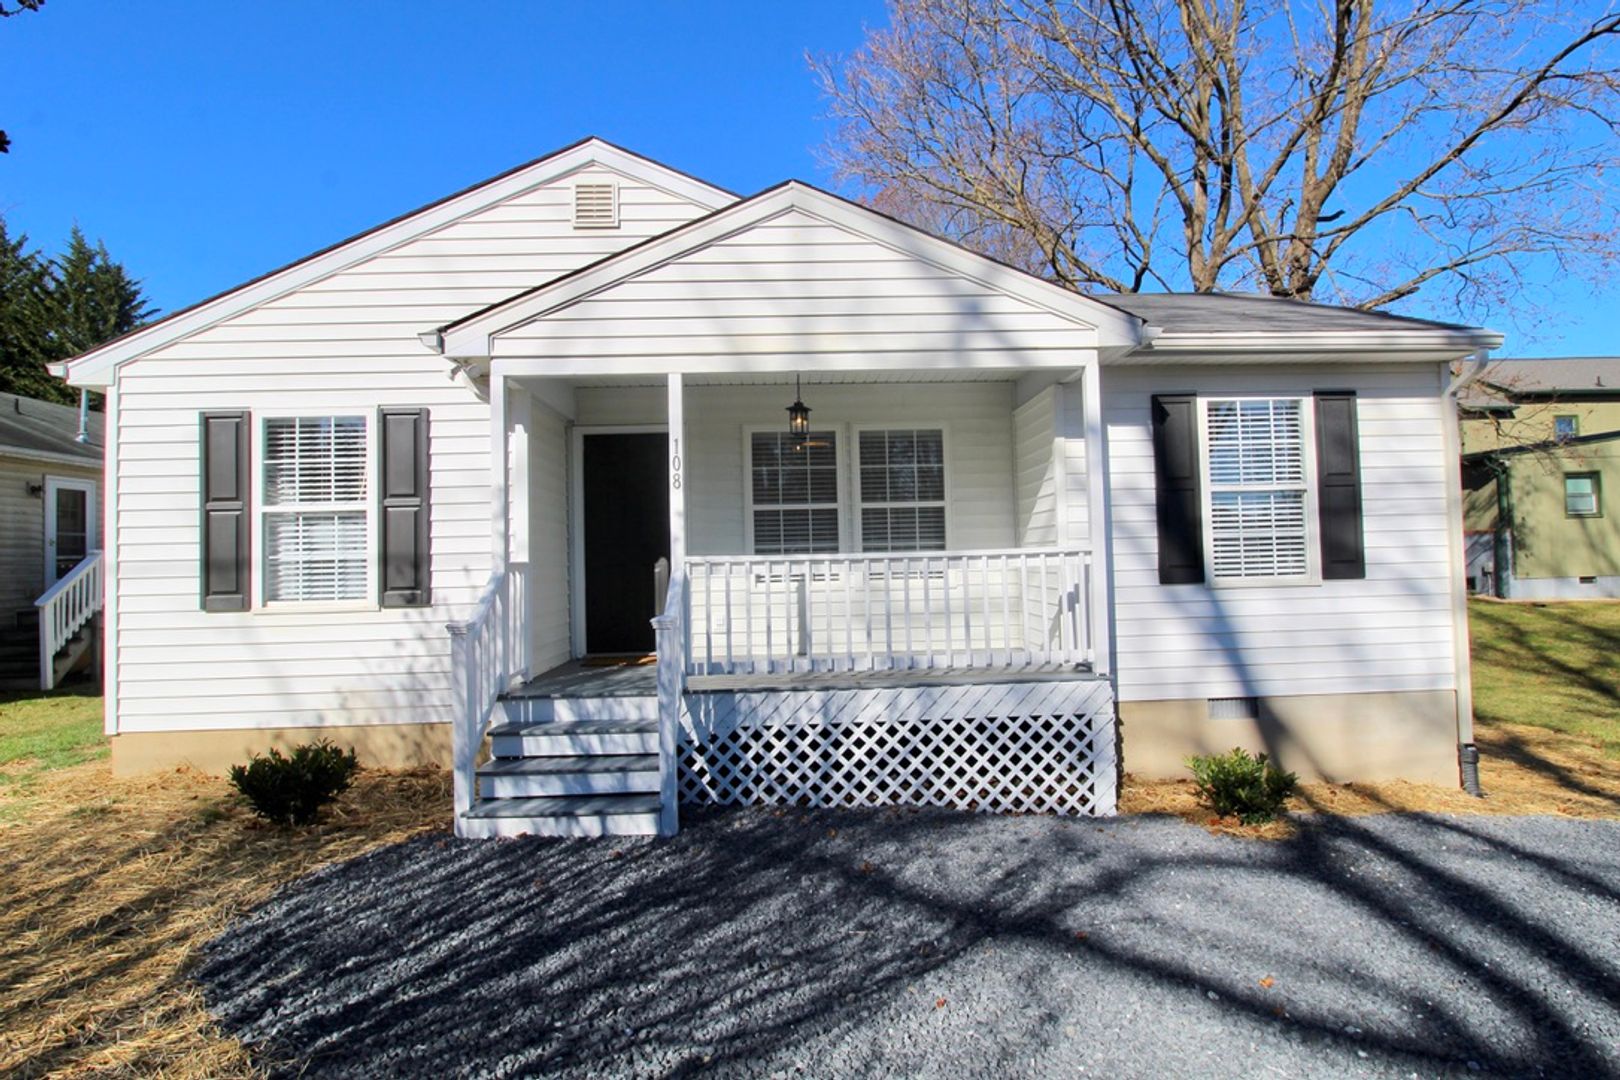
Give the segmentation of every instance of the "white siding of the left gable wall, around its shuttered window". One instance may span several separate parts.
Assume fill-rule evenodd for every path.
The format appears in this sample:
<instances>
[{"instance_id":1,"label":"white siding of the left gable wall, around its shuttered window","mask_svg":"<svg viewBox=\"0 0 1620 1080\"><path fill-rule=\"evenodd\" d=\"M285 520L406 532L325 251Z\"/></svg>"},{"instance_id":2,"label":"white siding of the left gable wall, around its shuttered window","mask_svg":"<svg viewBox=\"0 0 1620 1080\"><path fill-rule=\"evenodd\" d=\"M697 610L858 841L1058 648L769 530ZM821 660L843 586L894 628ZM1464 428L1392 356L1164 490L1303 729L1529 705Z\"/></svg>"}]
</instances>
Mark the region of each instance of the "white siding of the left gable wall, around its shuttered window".
<instances>
[{"instance_id":1,"label":"white siding of the left gable wall, around its shuttered window","mask_svg":"<svg viewBox=\"0 0 1620 1080\"><path fill-rule=\"evenodd\" d=\"M120 730L449 719L449 636L489 576L489 410L416 335L705 210L599 167L620 228L573 230L575 176L199 330L118 376ZM433 607L204 614L198 606L198 413L431 411ZM536 410L536 413L541 410ZM536 491L562 484L561 421L536 432ZM561 504L557 504L561 505ZM561 515L559 515L561 520ZM535 539L557 544L554 528ZM551 547L546 547L546 546ZM259 552L256 552L258 555ZM546 656L565 580L541 575ZM565 635L564 635L565 641Z\"/></svg>"}]
</instances>

